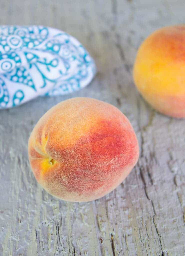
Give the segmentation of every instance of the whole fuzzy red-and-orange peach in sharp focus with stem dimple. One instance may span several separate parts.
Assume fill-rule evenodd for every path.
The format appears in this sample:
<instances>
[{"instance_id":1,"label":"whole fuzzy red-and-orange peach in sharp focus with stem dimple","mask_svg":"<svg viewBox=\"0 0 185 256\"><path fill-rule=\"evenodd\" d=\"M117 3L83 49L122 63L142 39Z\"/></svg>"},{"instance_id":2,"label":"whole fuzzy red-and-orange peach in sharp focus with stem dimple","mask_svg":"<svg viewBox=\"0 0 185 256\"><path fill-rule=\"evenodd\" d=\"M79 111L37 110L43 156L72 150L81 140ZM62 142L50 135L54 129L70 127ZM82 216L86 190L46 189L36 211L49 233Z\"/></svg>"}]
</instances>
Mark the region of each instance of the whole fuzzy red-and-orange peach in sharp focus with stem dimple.
<instances>
[{"instance_id":1,"label":"whole fuzzy red-and-orange peach in sharp focus with stem dimple","mask_svg":"<svg viewBox=\"0 0 185 256\"><path fill-rule=\"evenodd\" d=\"M139 156L126 116L108 103L72 98L46 112L28 142L31 169L51 195L91 201L116 188Z\"/></svg>"}]
</instances>

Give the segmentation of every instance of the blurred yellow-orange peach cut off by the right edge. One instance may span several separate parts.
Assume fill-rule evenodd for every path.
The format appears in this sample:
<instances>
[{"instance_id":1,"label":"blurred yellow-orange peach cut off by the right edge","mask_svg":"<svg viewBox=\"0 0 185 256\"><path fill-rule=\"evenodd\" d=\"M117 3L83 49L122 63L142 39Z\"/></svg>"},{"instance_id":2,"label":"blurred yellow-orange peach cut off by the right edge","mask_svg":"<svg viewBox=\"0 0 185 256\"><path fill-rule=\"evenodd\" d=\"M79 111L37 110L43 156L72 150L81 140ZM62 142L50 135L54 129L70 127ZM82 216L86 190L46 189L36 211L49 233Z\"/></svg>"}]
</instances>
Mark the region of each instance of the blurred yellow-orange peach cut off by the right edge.
<instances>
[{"instance_id":1,"label":"blurred yellow-orange peach cut off by the right edge","mask_svg":"<svg viewBox=\"0 0 185 256\"><path fill-rule=\"evenodd\" d=\"M145 100L159 112L185 117L185 25L164 27L140 46L134 81Z\"/></svg>"}]
</instances>

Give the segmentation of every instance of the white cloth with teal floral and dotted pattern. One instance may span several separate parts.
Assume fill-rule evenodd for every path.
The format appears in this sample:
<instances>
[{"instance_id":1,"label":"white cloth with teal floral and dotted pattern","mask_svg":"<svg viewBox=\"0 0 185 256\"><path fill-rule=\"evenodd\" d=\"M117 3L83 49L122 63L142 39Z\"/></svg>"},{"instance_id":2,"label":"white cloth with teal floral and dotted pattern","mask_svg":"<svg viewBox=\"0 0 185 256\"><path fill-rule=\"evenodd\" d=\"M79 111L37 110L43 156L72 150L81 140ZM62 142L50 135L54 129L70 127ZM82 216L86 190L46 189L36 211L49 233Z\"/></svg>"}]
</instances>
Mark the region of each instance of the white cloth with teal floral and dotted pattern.
<instances>
[{"instance_id":1,"label":"white cloth with teal floral and dotted pattern","mask_svg":"<svg viewBox=\"0 0 185 256\"><path fill-rule=\"evenodd\" d=\"M69 34L43 26L0 26L0 109L88 85L94 60Z\"/></svg>"}]
</instances>

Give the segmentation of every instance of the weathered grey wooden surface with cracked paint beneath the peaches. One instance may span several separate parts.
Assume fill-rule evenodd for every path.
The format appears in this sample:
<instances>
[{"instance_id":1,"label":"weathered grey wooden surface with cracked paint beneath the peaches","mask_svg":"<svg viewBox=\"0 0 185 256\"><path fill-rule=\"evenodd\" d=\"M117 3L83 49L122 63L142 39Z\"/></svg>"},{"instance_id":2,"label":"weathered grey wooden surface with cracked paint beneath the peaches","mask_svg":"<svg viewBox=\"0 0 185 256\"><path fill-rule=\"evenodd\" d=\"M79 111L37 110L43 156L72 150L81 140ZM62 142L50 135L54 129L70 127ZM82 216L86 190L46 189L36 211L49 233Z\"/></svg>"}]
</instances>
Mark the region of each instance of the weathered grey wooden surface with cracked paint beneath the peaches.
<instances>
[{"instance_id":1,"label":"weathered grey wooden surface with cracked paint beneath the peaches","mask_svg":"<svg viewBox=\"0 0 185 256\"><path fill-rule=\"evenodd\" d=\"M157 28L185 22L184 7L183 0L0 3L2 25L62 29L88 49L98 69L79 92L0 110L0 255L184 255L185 120L154 111L132 79L142 40ZM46 193L27 155L38 119L51 106L76 96L119 108L140 145L139 161L126 180L88 203L69 203Z\"/></svg>"}]
</instances>

